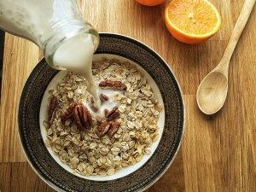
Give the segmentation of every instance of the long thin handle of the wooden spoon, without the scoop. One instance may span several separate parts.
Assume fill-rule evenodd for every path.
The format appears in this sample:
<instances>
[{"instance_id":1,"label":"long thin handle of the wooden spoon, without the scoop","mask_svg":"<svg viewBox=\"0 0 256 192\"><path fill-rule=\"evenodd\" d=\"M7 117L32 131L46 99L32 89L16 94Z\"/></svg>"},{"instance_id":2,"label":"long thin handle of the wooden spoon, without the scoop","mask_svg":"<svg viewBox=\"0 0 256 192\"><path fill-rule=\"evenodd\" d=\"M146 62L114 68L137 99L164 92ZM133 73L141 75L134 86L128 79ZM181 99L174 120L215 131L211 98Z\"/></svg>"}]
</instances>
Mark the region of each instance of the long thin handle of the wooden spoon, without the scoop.
<instances>
[{"instance_id":1,"label":"long thin handle of the wooden spoon, without the scoop","mask_svg":"<svg viewBox=\"0 0 256 192\"><path fill-rule=\"evenodd\" d=\"M225 49L222 60L219 62L216 69L223 71L226 75L228 74L228 68L231 56L236 48L237 41L241 36L241 32L247 24L247 20L253 10L253 6L256 0L245 0L240 12L240 15L236 21L236 26L233 29L233 32L230 37L229 44Z\"/></svg>"}]
</instances>

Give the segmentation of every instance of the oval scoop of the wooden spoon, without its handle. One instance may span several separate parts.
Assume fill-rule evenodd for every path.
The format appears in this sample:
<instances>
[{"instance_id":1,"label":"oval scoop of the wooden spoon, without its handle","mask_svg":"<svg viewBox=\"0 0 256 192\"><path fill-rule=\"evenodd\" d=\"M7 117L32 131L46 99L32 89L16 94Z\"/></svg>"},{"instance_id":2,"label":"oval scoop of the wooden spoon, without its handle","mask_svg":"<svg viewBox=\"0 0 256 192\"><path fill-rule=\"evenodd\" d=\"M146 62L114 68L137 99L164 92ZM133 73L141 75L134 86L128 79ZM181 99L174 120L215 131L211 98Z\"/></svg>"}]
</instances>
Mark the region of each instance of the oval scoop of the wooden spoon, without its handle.
<instances>
[{"instance_id":1,"label":"oval scoop of the wooden spoon, without its handle","mask_svg":"<svg viewBox=\"0 0 256 192\"><path fill-rule=\"evenodd\" d=\"M228 93L228 79L224 73L213 71L201 81L196 93L198 107L203 113L213 114L223 107Z\"/></svg>"}]
</instances>

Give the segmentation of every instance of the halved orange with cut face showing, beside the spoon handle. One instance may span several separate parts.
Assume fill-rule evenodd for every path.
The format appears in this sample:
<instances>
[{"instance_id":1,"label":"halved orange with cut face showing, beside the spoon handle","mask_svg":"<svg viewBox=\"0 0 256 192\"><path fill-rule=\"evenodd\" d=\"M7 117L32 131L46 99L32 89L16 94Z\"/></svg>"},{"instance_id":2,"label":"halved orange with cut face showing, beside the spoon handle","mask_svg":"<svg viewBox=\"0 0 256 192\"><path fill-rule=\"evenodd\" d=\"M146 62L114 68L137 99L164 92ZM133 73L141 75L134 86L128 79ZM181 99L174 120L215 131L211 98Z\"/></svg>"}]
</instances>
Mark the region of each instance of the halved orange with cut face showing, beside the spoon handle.
<instances>
[{"instance_id":1,"label":"halved orange with cut face showing, beside the spoon handle","mask_svg":"<svg viewBox=\"0 0 256 192\"><path fill-rule=\"evenodd\" d=\"M221 25L221 17L207 0L172 0L166 3L166 26L174 38L186 44L201 44Z\"/></svg>"}]
</instances>

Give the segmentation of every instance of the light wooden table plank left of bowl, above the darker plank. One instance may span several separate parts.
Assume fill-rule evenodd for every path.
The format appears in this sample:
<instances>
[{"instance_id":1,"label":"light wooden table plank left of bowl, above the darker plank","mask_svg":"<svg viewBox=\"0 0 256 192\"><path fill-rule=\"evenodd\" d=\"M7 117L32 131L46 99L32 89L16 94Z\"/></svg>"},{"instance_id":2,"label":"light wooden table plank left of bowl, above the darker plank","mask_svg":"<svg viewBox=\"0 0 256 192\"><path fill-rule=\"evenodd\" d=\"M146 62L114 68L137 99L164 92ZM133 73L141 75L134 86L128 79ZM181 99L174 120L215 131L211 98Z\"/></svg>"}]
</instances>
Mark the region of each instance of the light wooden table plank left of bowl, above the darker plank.
<instances>
[{"instance_id":1,"label":"light wooden table plank left of bowl, above the darker plank","mask_svg":"<svg viewBox=\"0 0 256 192\"><path fill-rule=\"evenodd\" d=\"M17 111L21 90L38 62L38 47L7 34L4 44L3 84L0 112L0 162L25 161L17 135Z\"/></svg>"}]
</instances>

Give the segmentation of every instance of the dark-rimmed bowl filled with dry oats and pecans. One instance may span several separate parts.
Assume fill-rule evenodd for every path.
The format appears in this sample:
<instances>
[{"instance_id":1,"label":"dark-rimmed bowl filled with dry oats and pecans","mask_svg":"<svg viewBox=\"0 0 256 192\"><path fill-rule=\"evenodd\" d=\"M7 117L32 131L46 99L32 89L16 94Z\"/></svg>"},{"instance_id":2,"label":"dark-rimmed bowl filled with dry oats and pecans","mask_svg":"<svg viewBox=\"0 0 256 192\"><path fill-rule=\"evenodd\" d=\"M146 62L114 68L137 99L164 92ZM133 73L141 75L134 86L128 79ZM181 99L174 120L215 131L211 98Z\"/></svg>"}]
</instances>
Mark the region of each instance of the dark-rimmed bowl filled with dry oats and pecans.
<instances>
[{"instance_id":1,"label":"dark-rimmed bowl filled with dry oats and pecans","mask_svg":"<svg viewBox=\"0 0 256 192\"><path fill-rule=\"evenodd\" d=\"M101 33L87 80L43 59L27 79L19 135L27 160L60 191L141 191L172 164L184 131L180 86L147 45Z\"/></svg>"}]
</instances>

